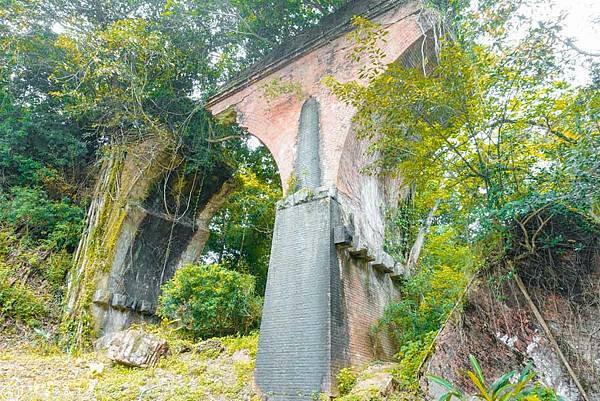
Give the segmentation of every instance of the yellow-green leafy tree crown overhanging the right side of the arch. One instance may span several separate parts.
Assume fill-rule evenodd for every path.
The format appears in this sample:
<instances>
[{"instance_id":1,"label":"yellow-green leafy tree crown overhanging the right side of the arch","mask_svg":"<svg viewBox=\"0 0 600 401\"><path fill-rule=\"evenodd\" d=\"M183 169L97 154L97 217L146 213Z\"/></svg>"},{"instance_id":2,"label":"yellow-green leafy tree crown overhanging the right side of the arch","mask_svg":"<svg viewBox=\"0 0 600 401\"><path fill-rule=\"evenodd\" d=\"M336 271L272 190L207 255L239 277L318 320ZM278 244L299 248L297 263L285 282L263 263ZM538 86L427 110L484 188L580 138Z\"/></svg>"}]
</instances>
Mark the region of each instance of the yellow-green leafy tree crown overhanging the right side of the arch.
<instances>
[{"instance_id":1,"label":"yellow-green leafy tree crown overhanging the right side of the arch","mask_svg":"<svg viewBox=\"0 0 600 401\"><path fill-rule=\"evenodd\" d=\"M519 3L482 7L477 11L486 24L480 14L455 10L460 34L451 25L440 30L449 33L437 39L435 65L395 63L383 75L366 74L367 85L329 81L336 95L358 108L358 131L379 155L371 172L401 174L417 188L421 213L441 199L439 214L451 213L471 234L500 229L507 224L506 207L532 194L564 200L578 180L574 171L591 171L581 159L579 167L569 167L564 155L589 154L599 131L598 91L563 78L569 64L558 52L559 26L532 24L515 44L507 31L525 18ZM380 28L367 28L360 39L367 46L359 48L375 54L369 38ZM593 173L587 177L594 180ZM582 210L581 202L587 209L597 202L591 187L597 185L586 186L576 205Z\"/></svg>"}]
</instances>

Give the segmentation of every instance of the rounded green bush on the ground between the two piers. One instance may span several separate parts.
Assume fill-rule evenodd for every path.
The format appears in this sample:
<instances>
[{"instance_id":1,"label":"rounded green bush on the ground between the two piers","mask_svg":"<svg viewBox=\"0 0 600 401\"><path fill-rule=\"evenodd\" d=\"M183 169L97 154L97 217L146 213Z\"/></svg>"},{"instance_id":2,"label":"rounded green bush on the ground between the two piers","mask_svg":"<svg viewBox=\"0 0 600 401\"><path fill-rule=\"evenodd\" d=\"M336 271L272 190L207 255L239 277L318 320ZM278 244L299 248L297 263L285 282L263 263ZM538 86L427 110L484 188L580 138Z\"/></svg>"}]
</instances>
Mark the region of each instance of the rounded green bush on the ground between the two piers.
<instances>
[{"instance_id":1,"label":"rounded green bush on the ground between the two piers","mask_svg":"<svg viewBox=\"0 0 600 401\"><path fill-rule=\"evenodd\" d=\"M158 314L195 337L244 334L260 318L254 286L254 277L216 264L187 265L162 286Z\"/></svg>"}]
</instances>

